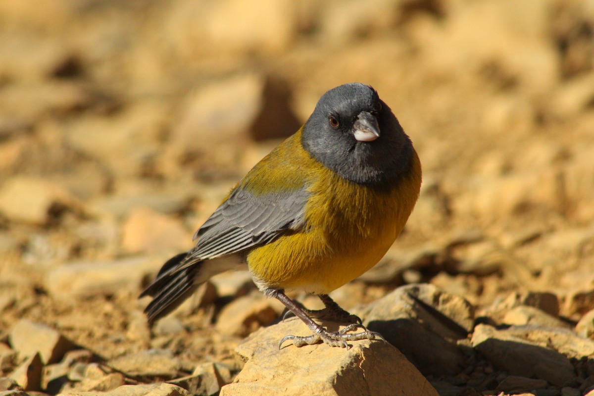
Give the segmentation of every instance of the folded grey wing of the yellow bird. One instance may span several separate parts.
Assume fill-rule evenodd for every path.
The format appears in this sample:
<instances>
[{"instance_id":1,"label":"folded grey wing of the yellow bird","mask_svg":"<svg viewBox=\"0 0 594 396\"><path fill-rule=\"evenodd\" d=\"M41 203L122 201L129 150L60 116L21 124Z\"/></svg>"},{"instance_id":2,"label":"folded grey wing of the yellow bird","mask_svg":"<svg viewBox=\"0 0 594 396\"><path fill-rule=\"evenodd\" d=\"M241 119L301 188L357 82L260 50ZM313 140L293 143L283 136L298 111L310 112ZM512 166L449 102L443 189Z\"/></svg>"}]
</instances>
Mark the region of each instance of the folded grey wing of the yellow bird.
<instances>
[{"instance_id":1,"label":"folded grey wing of the yellow bird","mask_svg":"<svg viewBox=\"0 0 594 396\"><path fill-rule=\"evenodd\" d=\"M304 223L306 189L264 196L236 188L195 233L196 247L176 268L270 243Z\"/></svg>"}]
</instances>

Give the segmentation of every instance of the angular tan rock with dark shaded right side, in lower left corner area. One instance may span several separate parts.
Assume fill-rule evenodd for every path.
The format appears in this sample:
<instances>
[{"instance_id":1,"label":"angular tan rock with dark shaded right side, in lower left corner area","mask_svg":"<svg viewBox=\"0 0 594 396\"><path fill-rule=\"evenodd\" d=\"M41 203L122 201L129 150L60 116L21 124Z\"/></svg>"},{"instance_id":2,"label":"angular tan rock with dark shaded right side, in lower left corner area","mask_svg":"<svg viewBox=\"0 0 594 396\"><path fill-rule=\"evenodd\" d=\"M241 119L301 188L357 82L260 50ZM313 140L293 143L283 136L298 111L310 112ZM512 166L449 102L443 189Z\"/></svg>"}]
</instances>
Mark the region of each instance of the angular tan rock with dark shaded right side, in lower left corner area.
<instances>
[{"instance_id":1,"label":"angular tan rock with dark shaded right side, in lower left corner area","mask_svg":"<svg viewBox=\"0 0 594 396\"><path fill-rule=\"evenodd\" d=\"M12 327L10 343L21 357L39 353L44 364L58 362L64 353L74 348L74 344L58 331L27 319L21 319Z\"/></svg>"}]
</instances>

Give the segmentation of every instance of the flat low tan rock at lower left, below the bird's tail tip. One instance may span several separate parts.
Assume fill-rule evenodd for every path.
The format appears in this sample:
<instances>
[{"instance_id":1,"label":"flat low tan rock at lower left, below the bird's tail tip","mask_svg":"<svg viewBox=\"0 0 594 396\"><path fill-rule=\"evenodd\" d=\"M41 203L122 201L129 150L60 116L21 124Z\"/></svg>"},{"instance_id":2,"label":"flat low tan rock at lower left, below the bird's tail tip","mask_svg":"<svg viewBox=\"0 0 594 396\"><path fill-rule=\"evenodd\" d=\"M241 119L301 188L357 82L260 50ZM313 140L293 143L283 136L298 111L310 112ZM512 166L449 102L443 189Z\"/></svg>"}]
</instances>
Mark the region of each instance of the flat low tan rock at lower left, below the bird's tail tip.
<instances>
[{"instance_id":1,"label":"flat low tan rock at lower left, below the bird's tail tip","mask_svg":"<svg viewBox=\"0 0 594 396\"><path fill-rule=\"evenodd\" d=\"M175 378L181 362L171 350L150 349L110 359L109 366L129 376Z\"/></svg>"}]
</instances>

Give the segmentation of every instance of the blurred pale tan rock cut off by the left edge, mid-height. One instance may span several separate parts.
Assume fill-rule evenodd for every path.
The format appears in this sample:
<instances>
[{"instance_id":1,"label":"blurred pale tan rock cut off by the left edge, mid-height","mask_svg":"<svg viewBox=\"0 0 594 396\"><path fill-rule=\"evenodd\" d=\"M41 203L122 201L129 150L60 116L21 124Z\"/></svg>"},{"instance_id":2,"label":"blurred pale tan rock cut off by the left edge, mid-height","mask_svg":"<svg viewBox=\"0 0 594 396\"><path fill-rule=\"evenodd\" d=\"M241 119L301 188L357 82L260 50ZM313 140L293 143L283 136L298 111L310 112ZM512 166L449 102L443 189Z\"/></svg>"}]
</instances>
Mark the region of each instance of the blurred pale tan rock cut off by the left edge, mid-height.
<instances>
[{"instance_id":1,"label":"blurred pale tan rock cut off by the left edge, mid-height","mask_svg":"<svg viewBox=\"0 0 594 396\"><path fill-rule=\"evenodd\" d=\"M69 192L43 179L14 176L0 189L0 213L12 221L43 225L65 209L86 211Z\"/></svg>"}]
</instances>

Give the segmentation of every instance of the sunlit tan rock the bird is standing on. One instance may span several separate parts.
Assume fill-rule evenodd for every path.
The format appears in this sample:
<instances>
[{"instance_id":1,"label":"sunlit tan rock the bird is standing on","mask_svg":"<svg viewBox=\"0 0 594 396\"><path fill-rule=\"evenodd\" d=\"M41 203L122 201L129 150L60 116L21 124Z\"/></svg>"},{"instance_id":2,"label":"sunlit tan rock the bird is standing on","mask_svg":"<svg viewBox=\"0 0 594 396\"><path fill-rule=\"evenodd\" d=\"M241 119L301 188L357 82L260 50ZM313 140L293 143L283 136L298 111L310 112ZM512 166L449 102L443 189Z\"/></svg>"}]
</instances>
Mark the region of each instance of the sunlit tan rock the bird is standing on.
<instances>
[{"instance_id":1,"label":"sunlit tan rock the bird is standing on","mask_svg":"<svg viewBox=\"0 0 594 396\"><path fill-rule=\"evenodd\" d=\"M352 341L349 350L325 344L279 350L287 334L310 331L299 319L289 320L239 346L237 353L247 362L220 395L437 395L403 354L383 341Z\"/></svg>"}]
</instances>

